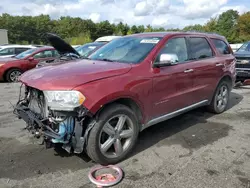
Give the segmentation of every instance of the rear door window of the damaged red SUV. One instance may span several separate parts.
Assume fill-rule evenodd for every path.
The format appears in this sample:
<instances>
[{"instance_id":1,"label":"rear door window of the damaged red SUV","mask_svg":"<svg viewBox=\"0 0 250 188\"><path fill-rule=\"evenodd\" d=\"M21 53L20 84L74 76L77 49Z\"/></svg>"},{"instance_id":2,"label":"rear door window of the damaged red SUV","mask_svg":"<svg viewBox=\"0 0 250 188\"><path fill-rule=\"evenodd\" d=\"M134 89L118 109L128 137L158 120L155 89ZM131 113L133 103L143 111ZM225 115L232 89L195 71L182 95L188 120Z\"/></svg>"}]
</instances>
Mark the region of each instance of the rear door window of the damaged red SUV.
<instances>
[{"instance_id":1,"label":"rear door window of the damaged red SUV","mask_svg":"<svg viewBox=\"0 0 250 188\"><path fill-rule=\"evenodd\" d=\"M189 38L189 45L192 51L191 59L198 60L213 56L213 51L206 38Z\"/></svg>"}]
</instances>

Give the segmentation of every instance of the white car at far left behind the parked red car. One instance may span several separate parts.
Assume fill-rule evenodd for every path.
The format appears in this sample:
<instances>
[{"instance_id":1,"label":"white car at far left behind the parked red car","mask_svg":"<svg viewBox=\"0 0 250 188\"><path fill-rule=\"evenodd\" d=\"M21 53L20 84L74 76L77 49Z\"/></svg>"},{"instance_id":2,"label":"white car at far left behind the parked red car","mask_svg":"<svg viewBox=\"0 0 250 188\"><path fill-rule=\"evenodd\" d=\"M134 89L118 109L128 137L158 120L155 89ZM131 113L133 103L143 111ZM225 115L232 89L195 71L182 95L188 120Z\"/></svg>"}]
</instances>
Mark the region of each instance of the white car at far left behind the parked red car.
<instances>
[{"instance_id":1,"label":"white car at far left behind the parked red car","mask_svg":"<svg viewBox=\"0 0 250 188\"><path fill-rule=\"evenodd\" d=\"M0 58L8 58L16 56L31 48L36 48L33 45L1 45L0 46Z\"/></svg>"}]
</instances>

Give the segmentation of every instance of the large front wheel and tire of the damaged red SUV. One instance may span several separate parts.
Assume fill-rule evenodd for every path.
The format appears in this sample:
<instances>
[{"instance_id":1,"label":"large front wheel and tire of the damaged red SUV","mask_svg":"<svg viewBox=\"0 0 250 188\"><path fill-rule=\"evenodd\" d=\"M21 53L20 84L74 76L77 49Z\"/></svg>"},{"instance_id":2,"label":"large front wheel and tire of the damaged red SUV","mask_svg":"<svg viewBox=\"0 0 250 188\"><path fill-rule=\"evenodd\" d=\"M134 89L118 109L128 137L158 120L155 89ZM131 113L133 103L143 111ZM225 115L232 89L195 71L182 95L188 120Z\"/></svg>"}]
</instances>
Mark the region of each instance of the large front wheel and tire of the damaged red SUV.
<instances>
[{"instance_id":1,"label":"large front wheel and tire of the damaged red SUV","mask_svg":"<svg viewBox=\"0 0 250 188\"><path fill-rule=\"evenodd\" d=\"M110 105L101 111L89 133L87 154L102 165L116 164L133 150L138 134L135 113L125 105Z\"/></svg>"}]
</instances>

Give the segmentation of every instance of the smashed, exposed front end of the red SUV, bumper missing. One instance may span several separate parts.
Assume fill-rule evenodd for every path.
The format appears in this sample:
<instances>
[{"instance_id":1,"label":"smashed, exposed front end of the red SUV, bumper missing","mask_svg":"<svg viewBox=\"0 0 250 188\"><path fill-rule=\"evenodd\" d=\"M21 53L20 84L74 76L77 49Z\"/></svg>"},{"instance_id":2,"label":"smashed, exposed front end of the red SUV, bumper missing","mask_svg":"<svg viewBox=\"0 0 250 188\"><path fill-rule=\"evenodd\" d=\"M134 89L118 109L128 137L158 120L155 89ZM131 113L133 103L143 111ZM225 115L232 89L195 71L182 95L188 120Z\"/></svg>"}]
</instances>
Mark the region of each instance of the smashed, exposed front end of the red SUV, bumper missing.
<instances>
[{"instance_id":1,"label":"smashed, exposed front end of the red SUV, bumper missing","mask_svg":"<svg viewBox=\"0 0 250 188\"><path fill-rule=\"evenodd\" d=\"M43 139L46 147L62 144L69 153L82 153L88 133L95 124L92 115L83 105L69 108L70 105L60 106L54 102L54 106L49 106L49 103L54 104L51 96L51 93L25 86L24 96L19 97L14 114L26 122L28 131Z\"/></svg>"}]
</instances>

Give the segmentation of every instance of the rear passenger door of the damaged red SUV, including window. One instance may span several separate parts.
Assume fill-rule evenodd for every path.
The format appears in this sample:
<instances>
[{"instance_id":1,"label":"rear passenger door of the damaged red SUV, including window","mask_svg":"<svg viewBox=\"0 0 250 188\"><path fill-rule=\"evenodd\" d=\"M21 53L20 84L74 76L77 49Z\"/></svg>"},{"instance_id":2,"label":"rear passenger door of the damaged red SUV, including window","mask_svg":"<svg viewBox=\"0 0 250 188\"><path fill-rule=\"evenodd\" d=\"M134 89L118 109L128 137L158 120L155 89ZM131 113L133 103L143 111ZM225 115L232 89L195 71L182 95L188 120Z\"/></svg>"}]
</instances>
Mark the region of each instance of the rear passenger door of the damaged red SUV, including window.
<instances>
[{"instance_id":1,"label":"rear passenger door of the damaged red SUV, including window","mask_svg":"<svg viewBox=\"0 0 250 188\"><path fill-rule=\"evenodd\" d=\"M216 84L221 77L218 67L222 67L221 59L211 47L206 37L189 37L188 44L191 50L193 66L195 103L209 100Z\"/></svg>"}]
</instances>

